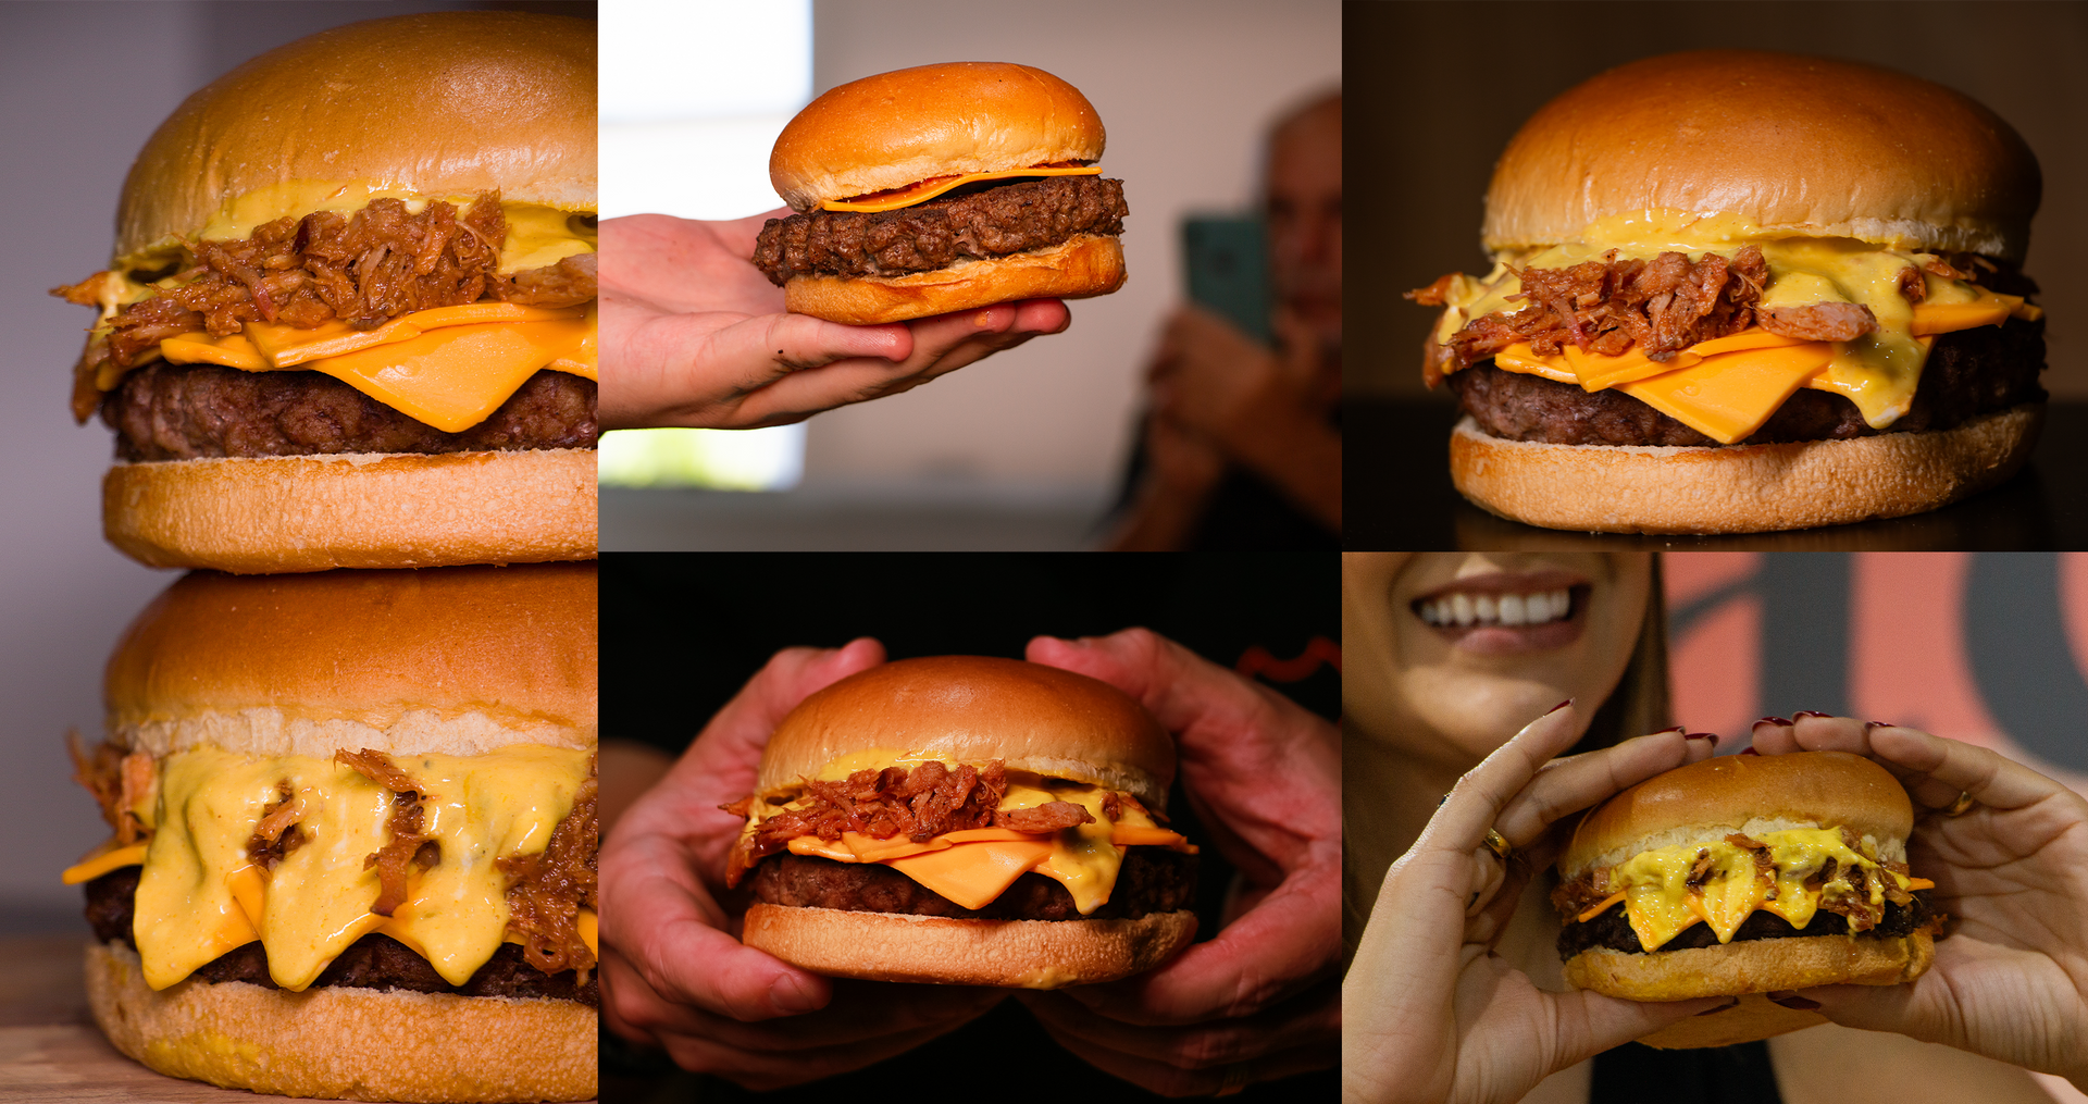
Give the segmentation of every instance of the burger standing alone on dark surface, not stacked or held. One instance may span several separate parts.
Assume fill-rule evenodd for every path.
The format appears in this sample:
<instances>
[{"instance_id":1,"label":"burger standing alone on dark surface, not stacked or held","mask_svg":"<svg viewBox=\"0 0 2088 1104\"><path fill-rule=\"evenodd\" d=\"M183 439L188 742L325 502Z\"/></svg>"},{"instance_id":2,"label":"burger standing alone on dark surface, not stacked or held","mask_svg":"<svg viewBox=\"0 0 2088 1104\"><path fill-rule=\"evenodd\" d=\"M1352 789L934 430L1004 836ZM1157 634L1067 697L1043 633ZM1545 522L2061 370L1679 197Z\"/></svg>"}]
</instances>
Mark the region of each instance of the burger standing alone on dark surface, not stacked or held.
<instances>
[{"instance_id":1,"label":"burger standing alone on dark surface, not stacked or held","mask_svg":"<svg viewBox=\"0 0 2088 1104\"><path fill-rule=\"evenodd\" d=\"M2015 474L2044 411L2021 271L2038 161L1986 106L1844 61L1706 50L1545 104L1487 190L1487 275L1424 376L1451 480L1516 522L1760 532Z\"/></svg>"}]
</instances>

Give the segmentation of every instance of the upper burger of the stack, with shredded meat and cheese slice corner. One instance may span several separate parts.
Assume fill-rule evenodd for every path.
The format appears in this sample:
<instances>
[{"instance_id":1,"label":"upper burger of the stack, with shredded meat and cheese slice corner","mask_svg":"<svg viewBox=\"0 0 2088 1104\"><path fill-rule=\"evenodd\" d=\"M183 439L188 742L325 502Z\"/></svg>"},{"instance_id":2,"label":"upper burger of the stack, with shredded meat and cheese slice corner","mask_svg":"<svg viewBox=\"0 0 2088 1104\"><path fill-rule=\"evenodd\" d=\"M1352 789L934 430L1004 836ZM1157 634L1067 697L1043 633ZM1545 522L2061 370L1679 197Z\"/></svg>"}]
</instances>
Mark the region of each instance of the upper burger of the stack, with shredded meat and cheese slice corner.
<instances>
[{"instance_id":1,"label":"upper burger of the stack, with shredded meat and cheese slice corner","mask_svg":"<svg viewBox=\"0 0 2088 1104\"><path fill-rule=\"evenodd\" d=\"M109 541L309 572L595 553L595 29L441 13L192 94L123 182L73 380Z\"/></svg>"}]
</instances>

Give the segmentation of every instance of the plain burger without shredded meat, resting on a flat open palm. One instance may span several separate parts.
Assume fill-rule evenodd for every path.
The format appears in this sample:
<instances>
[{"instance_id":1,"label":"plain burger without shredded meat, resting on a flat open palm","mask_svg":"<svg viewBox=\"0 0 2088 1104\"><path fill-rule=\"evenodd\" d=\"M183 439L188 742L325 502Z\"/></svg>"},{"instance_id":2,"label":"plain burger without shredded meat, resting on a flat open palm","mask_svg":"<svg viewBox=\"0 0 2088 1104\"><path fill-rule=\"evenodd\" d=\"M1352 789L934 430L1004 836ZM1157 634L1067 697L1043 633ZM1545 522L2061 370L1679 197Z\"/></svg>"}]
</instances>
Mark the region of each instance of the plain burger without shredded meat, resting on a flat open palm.
<instances>
[{"instance_id":1,"label":"plain burger without shredded meat, resting on a flat open palm","mask_svg":"<svg viewBox=\"0 0 2088 1104\"><path fill-rule=\"evenodd\" d=\"M800 315L852 326L1123 286L1123 182L1102 179L1102 119L1027 65L879 73L783 127L754 265Z\"/></svg>"}]
</instances>

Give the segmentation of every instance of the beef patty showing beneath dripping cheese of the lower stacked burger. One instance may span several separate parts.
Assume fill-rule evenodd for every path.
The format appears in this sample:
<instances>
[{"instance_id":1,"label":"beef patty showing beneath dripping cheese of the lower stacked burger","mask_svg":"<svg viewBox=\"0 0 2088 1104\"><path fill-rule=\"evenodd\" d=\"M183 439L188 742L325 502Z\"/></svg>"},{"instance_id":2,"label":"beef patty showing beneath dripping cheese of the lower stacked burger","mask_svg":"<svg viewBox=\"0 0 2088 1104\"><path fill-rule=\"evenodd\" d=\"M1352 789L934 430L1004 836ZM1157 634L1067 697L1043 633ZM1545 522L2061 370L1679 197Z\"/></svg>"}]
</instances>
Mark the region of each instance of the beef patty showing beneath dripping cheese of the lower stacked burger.
<instances>
[{"instance_id":1,"label":"beef patty showing beneath dripping cheese of the lower stacked burger","mask_svg":"<svg viewBox=\"0 0 2088 1104\"><path fill-rule=\"evenodd\" d=\"M138 897L138 866L111 870L88 883L88 925L102 943L123 943L138 950L132 935L132 912ZM263 989L276 989L267 975L267 952L261 943L246 943L196 968L192 977L209 983L246 981ZM313 987L345 985L351 989L411 989L416 993L459 993L468 998L555 998L574 1000L589 1008L601 1006L601 987L595 977L576 985L578 975L564 970L547 975L522 960L522 947L501 943L493 958L464 983L451 985L426 958L413 954L405 943L388 935L363 935L340 952Z\"/></svg>"}]
</instances>

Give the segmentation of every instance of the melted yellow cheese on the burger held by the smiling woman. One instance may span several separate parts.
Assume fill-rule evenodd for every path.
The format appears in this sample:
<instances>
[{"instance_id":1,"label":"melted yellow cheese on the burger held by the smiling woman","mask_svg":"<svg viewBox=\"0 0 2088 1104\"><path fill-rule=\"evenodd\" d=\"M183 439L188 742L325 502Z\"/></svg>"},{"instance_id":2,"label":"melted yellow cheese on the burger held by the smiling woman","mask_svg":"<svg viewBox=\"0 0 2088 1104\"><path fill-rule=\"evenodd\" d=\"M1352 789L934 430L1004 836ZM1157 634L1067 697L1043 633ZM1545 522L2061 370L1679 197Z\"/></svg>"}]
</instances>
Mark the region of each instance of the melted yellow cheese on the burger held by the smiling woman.
<instances>
[{"instance_id":1,"label":"melted yellow cheese on the burger held by the smiling woman","mask_svg":"<svg viewBox=\"0 0 2088 1104\"><path fill-rule=\"evenodd\" d=\"M1679 843L1637 854L1610 868L1610 899L1589 908L1579 920L1591 920L1606 908L1622 899L1631 931L1639 935L1645 950L1660 950L1683 933L1683 929L1706 922L1721 943L1733 941L1733 933L1754 910L1775 912L1792 927L1804 929L1812 922L1823 899L1854 893L1840 870L1862 866L1869 904L1883 906L1885 877L1896 879L1900 889L1927 889L1927 879L1911 879L1885 870L1877 862L1877 841L1862 837L1862 851L1844 843L1840 829L1785 829L1762 833L1769 845L1775 877L1758 877L1754 854L1725 839L1706 843ZM1710 874L1700 889L1689 887L1689 870L1700 856L1710 858ZM1817 874L1827 860L1835 860L1835 877L1808 889L1806 879Z\"/></svg>"}]
</instances>

